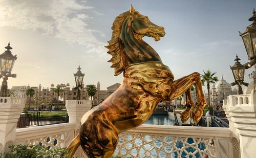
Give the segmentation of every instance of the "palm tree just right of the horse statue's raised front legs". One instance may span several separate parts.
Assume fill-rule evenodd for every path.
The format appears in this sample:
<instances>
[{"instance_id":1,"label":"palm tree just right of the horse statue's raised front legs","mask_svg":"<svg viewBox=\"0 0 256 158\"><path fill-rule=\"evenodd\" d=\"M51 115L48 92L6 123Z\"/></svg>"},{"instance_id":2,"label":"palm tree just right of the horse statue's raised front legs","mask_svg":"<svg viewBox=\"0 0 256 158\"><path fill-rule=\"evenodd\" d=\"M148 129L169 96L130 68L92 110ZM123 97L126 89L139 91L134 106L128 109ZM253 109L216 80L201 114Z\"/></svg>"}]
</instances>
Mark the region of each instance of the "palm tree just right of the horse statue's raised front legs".
<instances>
[{"instance_id":1,"label":"palm tree just right of the horse statue's raised front legs","mask_svg":"<svg viewBox=\"0 0 256 158\"><path fill-rule=\"evenodd\" d=\"M210 83L215 83L216 81L218 81L218 77L214 76L217 72L215 73L211 73L210 70L208 69L206 72L204 72L204 74L201 74L201 78L202 78L202 84L204 85L204 83L206 82L206 86L207 86L207 92L208 92L208 106L210 106Z\"/></svg>"}]
</instances>

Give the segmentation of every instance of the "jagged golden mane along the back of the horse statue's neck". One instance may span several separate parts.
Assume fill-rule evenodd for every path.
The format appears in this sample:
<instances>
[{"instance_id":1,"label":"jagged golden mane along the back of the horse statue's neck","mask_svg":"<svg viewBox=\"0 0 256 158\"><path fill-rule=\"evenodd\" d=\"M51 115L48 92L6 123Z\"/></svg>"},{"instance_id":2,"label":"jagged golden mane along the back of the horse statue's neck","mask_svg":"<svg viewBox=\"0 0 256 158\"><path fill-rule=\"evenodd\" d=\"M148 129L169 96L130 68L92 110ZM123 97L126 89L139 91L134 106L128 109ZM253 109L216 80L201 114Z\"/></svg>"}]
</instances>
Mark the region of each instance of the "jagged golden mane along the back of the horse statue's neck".
<instances>
[{"instance_id":1,"label":"jagged golden mane along the back of the horse statue's neck","mask_svg":"<svg viewBox=\"0 0 256 158\"><path fill-rule=\"evenodd\" d=\"M105 46L105 48L109 49L108 54L112 55L112 58L108 62L113 63L111 67L115 69L115 76L121 74L128 65L127 57L122 48L123 44L119 36L121 34L123 21L129 15L130 11L126 11L115 18L111 28L113 30L111 40L108 41L109 45Z\"/></svg>"}]
</instances>

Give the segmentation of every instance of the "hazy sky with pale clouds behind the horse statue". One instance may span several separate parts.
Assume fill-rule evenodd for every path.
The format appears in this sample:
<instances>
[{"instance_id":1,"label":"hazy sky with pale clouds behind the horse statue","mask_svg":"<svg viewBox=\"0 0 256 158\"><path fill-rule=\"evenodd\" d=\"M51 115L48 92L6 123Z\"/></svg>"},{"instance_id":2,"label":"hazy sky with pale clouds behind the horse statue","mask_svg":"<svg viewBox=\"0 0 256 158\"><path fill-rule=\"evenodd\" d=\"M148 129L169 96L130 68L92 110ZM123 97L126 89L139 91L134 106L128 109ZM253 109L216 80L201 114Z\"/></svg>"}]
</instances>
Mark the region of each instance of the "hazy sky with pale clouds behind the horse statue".
<instances>
[{"instance_id":1,"label":"hazy sky with pale clouds behind the horse statue","mask_svg":"<svg viewBox=\"0 0 256 158\"><path fill-rule=\"evenodd\" d=\"M175 79L203 70L233 82L229 65L236 54L248 61L238 31L251 24L248 18L256 1L75 1L0 0L0 53L10 41L17 55L8 87L75 86L73 73L80 65L84 84L101 83L101 89L121 83L114 76L106 41L111 39L116 16L130 5L165 28L159 41L143 37L169 66ZM2 51L2 52L1 52ZM245 81L250 82L245 71ZM232 87L234 88L234 87ZM237 87L236 87L237 88Z\"/></svg>"}]
</instances>

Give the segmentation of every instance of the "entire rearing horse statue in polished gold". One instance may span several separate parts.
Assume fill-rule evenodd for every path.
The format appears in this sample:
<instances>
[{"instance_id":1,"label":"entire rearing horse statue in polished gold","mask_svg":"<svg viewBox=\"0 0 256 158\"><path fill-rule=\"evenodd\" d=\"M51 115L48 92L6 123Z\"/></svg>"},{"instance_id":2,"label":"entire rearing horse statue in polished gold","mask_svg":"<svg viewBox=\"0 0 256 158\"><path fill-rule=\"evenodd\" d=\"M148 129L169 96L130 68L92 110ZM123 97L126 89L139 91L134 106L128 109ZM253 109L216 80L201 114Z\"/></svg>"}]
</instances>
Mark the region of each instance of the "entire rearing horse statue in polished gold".
<instances>
[{"instance_id":1,"label":"entire rearing horse statue in polished gold","mask_svg":"<svg viewBox=\"0 0 256 158\"><path fill-rule=\"evenodd\" d=\"M151 117L157 104L186 94L186 109L181 112L185 122L190 115L197 123L206 105L199 73L174 81L169 67L157 52L142 40L155 41L165 35L164 28L153 24L147 16L131 6L130 11L116 17L113 34L106 48L112 55L110 62L115 75L123 73L120 87L98 106L90 109L81 119L79 134L68 145L74 155L81 145L88 157L111 157L118 144L118 134L143 124ZM190 87L196 86L197 102L193 103Z\"/></svg>"}]
</instances>

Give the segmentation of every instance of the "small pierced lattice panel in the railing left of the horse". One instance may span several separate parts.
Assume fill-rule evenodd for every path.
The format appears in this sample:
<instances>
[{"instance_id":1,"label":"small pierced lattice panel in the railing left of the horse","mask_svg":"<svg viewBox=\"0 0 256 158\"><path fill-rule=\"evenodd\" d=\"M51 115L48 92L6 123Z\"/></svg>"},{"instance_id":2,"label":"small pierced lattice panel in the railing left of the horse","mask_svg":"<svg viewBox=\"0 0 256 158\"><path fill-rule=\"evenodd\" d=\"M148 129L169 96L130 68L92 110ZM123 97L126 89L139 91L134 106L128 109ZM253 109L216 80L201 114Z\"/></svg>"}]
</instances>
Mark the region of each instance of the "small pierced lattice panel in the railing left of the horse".
<instances>
[{"instance_id":1,"label":"small pierced lattice panel in the railing left of the horse","mask_svg":"<svg viewBox=\"0 0 256 158\"><path fill-rule=\"evenodd\" d=\"M62 134L56 134L53 136L41 137L29 141L29 144L42 144L48 146L49 149L61 148L61 143L64 143Z\"/></svg>"}]
</instances>

